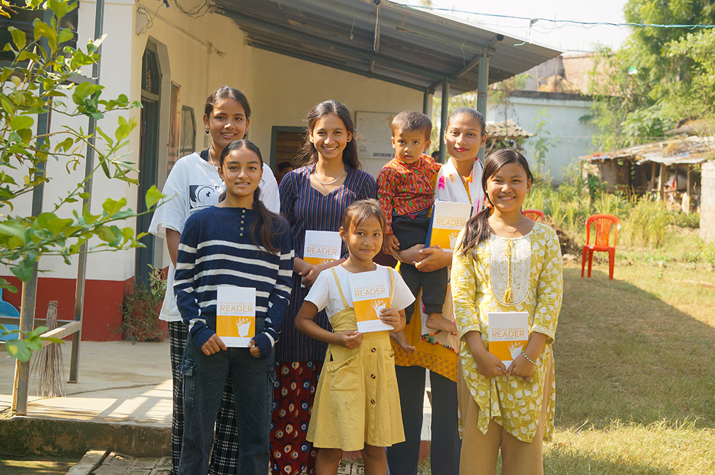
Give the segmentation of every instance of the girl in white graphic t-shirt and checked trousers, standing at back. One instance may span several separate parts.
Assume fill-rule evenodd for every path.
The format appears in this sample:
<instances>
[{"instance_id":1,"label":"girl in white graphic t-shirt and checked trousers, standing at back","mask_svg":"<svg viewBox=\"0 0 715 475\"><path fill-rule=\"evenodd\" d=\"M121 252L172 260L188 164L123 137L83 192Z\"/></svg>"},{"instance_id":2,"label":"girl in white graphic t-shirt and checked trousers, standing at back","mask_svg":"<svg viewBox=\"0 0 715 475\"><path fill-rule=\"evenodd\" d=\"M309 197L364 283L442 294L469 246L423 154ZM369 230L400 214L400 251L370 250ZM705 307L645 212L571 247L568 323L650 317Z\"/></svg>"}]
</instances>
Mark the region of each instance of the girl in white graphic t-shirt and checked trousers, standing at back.
<instances>
[{"instance_id":1,"label":"girl in white graphic t-shirt and checked trousers, standing at back","mask_svg":"<svg viewBox=\"0 0 715 475\"><path fill-rule=\"evenodd\" d=\"M204 106L204 127L211 136L211 147L202 152L194 152L182 157L172 167L163 193L167 201L157 207L149 225L149 232L164 238L169 250L169 272L167 274L167 293L159 318L169 322L171 341L172 376L174 380L174 398L172 414L172 475L179 472L179 454L181 454L184 434L184 410L182 375L179 364L184 354L184 345L189 336L182 321L174 296L174 272L176 271L179 240L184 224L189 216L198 210L217 205L224 191L224 184L219 177L218 166L221 152L231 142L244 137L250 123L251 108L248 99L238 89L223 86L212 92ZM268 210L280 212L278 185L273 173L265 163L260 182L260 198ZM226 383L224 397L216 420L217 443L212 451L211 468L214 475L234 475L237 470L238 449L232 439L237 437L234 416L234 398L231 380Z\"/></svg>"}]
</instances>

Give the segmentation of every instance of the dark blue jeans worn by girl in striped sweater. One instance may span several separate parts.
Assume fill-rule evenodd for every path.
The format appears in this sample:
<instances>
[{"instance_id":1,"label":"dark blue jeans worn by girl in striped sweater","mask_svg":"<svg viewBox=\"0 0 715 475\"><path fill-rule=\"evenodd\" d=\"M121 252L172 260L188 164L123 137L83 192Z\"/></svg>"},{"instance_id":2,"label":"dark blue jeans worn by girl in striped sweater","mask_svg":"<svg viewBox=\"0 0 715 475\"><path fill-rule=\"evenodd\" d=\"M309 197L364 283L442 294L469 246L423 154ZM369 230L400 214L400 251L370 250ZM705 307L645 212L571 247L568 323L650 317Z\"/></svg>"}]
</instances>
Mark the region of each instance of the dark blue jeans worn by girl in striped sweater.
<instances>
[{"instance_id":1,"label":"dark blue jeans worn by girl in striped sweater","mask_svg":"<svg viewBox=\"0 0 715 475\"><path fill-rule=\"evenodd\" d=\"M257 319L256 323L259 322ZM237 474L268 473L270 414L275 381L273 360L272 354L265 359L253 358L248 348L228 348L227 351L206 356L189 336L181 366L184 377L184 437L179 475L208 473L216 414L229 375L236 401Z\"/></svg>"}]
</instances>

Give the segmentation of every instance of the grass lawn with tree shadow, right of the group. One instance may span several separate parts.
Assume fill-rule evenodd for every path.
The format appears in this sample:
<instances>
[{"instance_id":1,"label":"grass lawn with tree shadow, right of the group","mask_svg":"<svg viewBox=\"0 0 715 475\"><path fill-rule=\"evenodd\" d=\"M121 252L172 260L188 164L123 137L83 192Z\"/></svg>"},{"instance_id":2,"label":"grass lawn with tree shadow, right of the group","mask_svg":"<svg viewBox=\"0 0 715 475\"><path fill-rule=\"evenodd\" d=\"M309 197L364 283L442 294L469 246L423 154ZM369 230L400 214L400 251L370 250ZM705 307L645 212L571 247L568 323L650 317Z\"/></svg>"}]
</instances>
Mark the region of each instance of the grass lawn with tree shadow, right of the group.
<instances>
[{"instance_id":1,"label":"grass lawn with tree shadow, right of the group","mask_svg":"<svg viewBox=\"0 0 715 475\"><path fill-rule=\"evenodd\" d=\"M696 236L618 248L614 280L601 259L590 279L564 269L546 474L715 474L715 270Z\"/></svg>"}]
</instances>

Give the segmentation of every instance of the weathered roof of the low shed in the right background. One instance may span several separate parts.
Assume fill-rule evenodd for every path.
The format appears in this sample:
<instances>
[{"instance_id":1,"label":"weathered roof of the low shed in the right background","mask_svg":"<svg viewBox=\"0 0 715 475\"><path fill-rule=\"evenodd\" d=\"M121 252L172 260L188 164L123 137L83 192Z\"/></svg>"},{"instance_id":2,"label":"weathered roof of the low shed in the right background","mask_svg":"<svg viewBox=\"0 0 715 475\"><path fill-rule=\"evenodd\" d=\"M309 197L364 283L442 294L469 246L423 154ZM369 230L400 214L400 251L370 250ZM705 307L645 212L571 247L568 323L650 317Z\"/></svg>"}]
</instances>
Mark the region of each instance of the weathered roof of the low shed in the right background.
<instances>
[{"instance_id":1,"label":"weathered roof of the low shed in the right background","mask_svg":"<svg viewBox=\"0 0 715 475\"><path fill-rule=\"evenodd\" d=\"M664 165L688 165L705 162L715 157L715 137L676 137L659 142L634 145L613 152L579 157L580 160L596 162L598 160L636 159L644 162L663 163Z\"/></svg>"}]
</instances>

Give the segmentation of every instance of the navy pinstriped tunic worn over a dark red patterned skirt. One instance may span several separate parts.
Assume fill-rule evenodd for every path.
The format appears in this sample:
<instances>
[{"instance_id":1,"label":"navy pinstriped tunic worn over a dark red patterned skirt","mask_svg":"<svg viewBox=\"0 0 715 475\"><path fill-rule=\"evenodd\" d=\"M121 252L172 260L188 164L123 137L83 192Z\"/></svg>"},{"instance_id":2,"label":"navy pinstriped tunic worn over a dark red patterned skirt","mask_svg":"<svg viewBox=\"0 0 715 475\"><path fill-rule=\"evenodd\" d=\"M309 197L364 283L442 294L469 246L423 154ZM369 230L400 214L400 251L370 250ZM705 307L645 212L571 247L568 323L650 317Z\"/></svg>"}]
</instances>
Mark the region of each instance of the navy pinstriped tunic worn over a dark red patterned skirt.
<instances>
[{"instance_id":1,"label":"navy pinstriped tunic worn over a dark red patterned skirt","mask_svg":"<svg viewBox=\"0 0 715 475\"><path fill-rule=\"evenodd\" d=\"M327 196L310 186L310 174L315 171L315 165L293 170L280 182L280 212L288 220L293 235L295 257L303 257L305 231L337 231L342 225L342 214L345 208L355 201L375 198L378 187L375 179L367 172L347 167L345 182ZM343 255L347 253L343 245ZM295 315L308 293L307 288L301 288L300 275L293 273L293 290L290 303L283 320L282 334L275 346L276 361L322 361L325 358L327 343L313 340L295 329ZM330 330L325 312L315 317L315 322Z\"/></svg>"}]
</instances>

